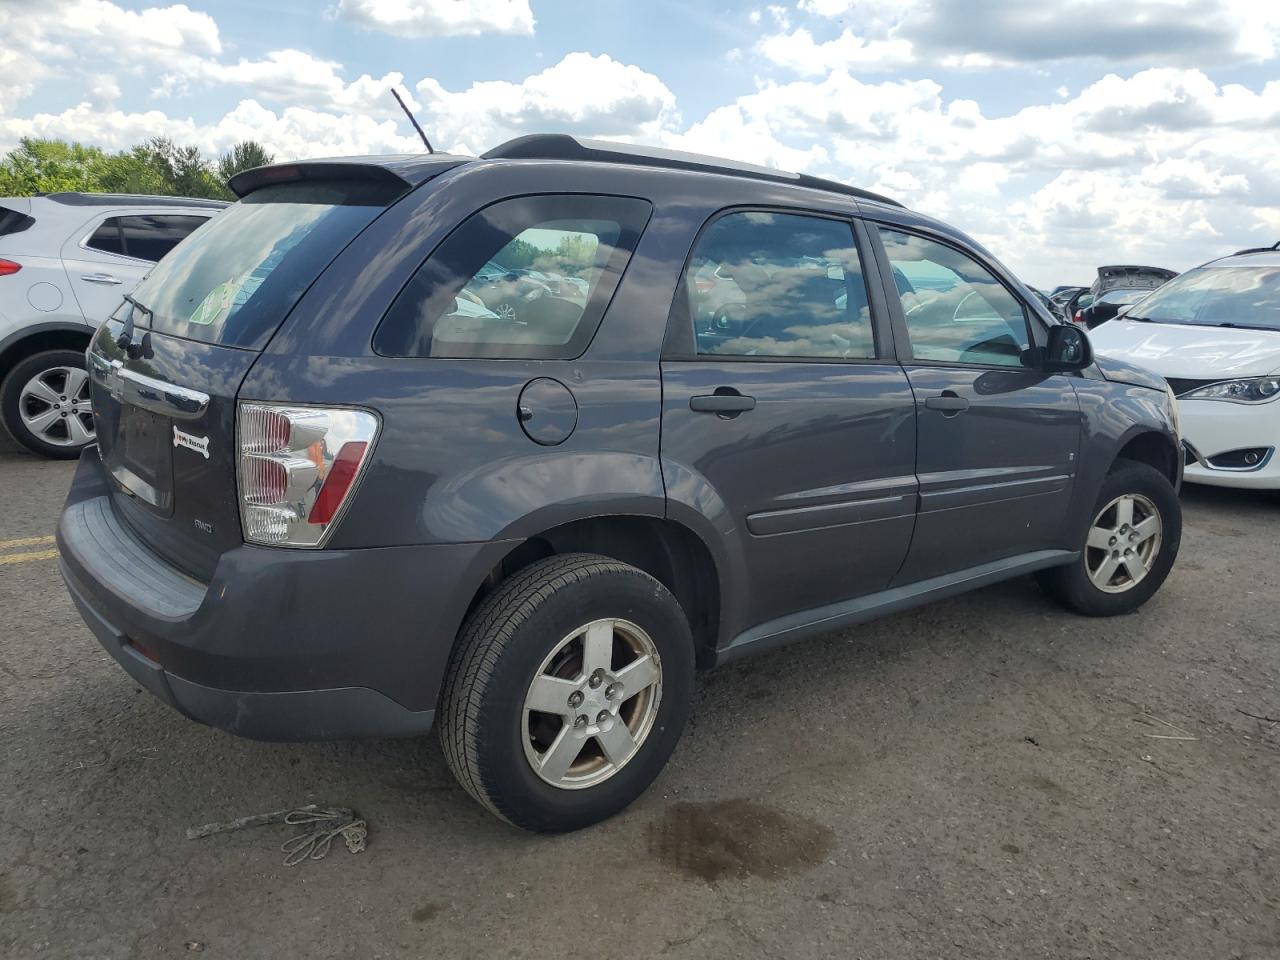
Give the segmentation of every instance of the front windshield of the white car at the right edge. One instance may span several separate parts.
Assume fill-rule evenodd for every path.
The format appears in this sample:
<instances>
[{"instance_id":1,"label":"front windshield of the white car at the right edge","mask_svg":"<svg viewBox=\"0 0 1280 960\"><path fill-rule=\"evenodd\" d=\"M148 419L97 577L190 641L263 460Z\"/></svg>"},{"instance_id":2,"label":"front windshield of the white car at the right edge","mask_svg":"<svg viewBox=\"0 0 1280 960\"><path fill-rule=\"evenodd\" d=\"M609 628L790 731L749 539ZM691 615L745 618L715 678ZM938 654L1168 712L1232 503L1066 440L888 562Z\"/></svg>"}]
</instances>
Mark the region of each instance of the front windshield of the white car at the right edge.
<instances>
[{"instance_id":1,"label":"front windshield of the white car at the right edge","mask_svg":"<svg viewBox=\"0 0 1280 960\"><path fill-rule=\"evenodd\" d=\"M1201 266L1151 293L1128 316L1280 330L1280 266Z\"/></svg>"}]
</instances>

